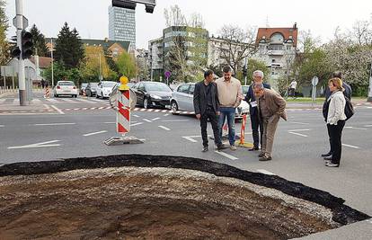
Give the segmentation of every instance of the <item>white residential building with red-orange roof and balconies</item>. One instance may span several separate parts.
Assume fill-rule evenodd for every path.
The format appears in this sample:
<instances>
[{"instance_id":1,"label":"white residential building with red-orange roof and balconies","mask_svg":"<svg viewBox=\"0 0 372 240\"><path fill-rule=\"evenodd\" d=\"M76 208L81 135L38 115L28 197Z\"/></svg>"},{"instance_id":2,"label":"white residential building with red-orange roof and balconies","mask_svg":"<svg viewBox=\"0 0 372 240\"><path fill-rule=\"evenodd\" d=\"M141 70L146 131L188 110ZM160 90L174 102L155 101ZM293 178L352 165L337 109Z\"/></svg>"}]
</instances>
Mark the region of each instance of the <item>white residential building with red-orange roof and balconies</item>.
<instances>
[{"instance_id":1,"label":"white residential building with red-orange roof and balconies","mask_svg":"<svg viewBox=\"0 0 372 240\"><path fill-rule=\"evenodd\" d=\"M259 28L254 58L270 67L271 78L287 75L297 54L297 23L291 28Z\"/></svg>"}]
</instances>

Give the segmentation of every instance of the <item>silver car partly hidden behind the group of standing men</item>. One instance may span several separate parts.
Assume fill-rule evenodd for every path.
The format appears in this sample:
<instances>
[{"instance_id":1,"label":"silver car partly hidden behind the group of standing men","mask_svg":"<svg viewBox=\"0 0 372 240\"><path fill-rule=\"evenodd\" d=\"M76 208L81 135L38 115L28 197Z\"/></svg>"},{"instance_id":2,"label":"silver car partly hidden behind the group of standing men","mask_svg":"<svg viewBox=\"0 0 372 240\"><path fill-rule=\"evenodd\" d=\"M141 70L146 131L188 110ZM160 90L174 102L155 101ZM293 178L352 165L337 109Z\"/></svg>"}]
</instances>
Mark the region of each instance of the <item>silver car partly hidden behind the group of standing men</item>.
<instances>
[{"instance_id":1,"label":"silver car partly hidden behind the group of standing men","mask_svg":"<svg viewBox=\"0 0 372 240\"><path fill-rule=\"evenodd\" d=\"M194 111L194 89L195 83L180 84L172 93L172 111ZM235 119L241 119L243 114L249 113L249 104L242 101L235 110ZM173 113L174 114L174 113Z\"/></svg>"}]
</instances>

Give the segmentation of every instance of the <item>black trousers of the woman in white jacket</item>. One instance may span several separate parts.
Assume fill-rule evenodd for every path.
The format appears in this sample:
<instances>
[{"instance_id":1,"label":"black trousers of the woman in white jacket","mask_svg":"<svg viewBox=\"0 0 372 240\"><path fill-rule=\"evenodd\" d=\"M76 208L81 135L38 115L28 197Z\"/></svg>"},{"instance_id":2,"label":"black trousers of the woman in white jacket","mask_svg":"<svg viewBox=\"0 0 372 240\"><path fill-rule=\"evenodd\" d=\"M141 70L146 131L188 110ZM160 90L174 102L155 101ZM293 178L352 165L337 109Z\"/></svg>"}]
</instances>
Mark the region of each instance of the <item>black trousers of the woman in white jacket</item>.
<instances>
[{"instance_id":1,"label":"black trousers of the woman in white jacket","mask_svg":"<svg viewBox=\"0 0 372 240\"><path fill-rule=\"evenodd\" d=\"M342 129L345 126L345 120L339 120L337 125L327 124L328 132L330 134L332 164L340 164L341 160L341 136Z\"/></svg>"}]
</instances>

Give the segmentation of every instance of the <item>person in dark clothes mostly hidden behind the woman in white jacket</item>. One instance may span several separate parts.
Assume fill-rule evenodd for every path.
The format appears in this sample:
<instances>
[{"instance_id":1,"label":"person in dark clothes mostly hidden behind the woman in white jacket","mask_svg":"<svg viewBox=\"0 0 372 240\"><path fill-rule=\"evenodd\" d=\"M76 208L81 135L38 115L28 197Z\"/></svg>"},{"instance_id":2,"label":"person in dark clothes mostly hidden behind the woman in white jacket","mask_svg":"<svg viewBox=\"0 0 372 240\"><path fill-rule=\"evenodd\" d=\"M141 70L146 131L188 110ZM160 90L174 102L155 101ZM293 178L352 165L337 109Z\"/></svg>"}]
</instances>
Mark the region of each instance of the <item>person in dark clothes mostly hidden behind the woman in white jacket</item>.
<instances>
[{"instance_id":1,"label":"person in dark clothes mostly hidden behind the woman in white jacket","mask_svg":"<svg viewBox=\"0 0 372 240\"><path fill-rule=\"evenodd\" d=\"M344 89L344 91L342 92L343 95L347 98L349 98L349 100L351 100L351 94L352 94L352 90L351 90L351 87L349 84L345 83L344 81L342 81L342 74L340 71L335 71L332 73L332 77L337 77L337 78L340 78L341 79L341 82L342 82L342 88ZM323 118L324 118L324 121L327 121L327 117L328 117L328 105L330 103L330 97L332 95L332 92L330 90L329 87L326 88L325 90L325 101L323 102ZM330 128L329 128L329 125L327 124L327 130L328 130L328 136L329 136L329 141L330 141L330 150L328 151L328 153L326 154L323 154L322 156L323 157L327 157L328 160L331 160L332 158L332 143L331 143L331 132L330 132Z\"/></svg>"}]
</instances>

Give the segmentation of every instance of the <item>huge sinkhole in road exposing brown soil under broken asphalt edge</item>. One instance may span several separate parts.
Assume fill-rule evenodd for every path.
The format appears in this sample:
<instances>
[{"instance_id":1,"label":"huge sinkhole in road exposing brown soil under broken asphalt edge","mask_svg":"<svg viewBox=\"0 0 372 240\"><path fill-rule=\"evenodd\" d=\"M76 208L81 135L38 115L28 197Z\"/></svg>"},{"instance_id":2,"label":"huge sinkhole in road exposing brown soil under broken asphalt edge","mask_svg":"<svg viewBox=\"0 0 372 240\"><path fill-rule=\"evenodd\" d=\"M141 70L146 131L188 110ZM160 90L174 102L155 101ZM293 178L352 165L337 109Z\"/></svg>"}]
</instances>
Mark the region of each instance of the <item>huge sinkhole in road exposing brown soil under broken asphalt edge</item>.
<instances>
[{"instance_id":1,"label":"huge sinkhole in road exposing brown soil under broken asphalt edge","mask_svg":"<svg viewBox=\"0 0 372 240\"><path fill-rule=\"evenodd\" d=\"M0 239L288 239L368 215L278 176L181 156L0 167Z\"/></svg>"}]
</instances>

